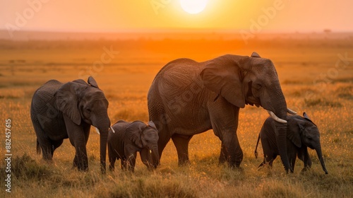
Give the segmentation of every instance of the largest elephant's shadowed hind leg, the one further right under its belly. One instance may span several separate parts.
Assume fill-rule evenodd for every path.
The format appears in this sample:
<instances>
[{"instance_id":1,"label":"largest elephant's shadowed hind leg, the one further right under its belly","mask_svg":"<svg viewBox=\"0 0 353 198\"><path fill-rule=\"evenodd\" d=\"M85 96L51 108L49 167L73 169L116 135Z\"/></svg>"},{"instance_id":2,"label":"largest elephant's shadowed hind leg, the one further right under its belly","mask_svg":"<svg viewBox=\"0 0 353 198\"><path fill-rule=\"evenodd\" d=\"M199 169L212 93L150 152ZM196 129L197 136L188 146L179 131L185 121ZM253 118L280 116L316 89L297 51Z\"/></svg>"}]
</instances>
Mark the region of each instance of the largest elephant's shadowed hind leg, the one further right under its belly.
<instances>
[{"instance_id":1,"label":"largest elephant's shadowed hind leg, the one further right under its belly","mask_svg":"<svg viewBox=\"0 0 353 198\"><path fill-rule=\"evenodd\" d=\"M172 136L175 148L177 148L178 153L178 165L189 164L189 141L193 136L183 136L179 134L174 134Z\"/></svg>"}]
</instances>

